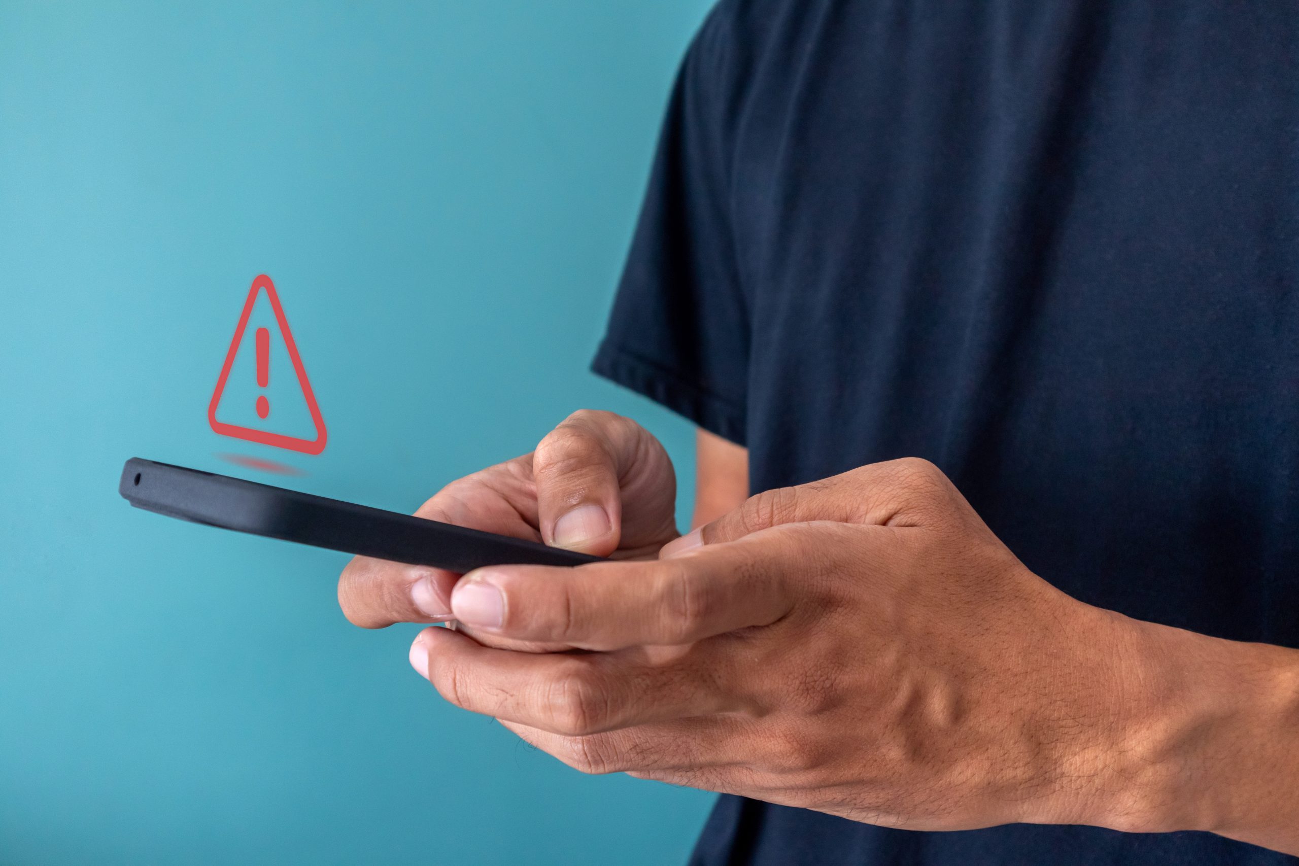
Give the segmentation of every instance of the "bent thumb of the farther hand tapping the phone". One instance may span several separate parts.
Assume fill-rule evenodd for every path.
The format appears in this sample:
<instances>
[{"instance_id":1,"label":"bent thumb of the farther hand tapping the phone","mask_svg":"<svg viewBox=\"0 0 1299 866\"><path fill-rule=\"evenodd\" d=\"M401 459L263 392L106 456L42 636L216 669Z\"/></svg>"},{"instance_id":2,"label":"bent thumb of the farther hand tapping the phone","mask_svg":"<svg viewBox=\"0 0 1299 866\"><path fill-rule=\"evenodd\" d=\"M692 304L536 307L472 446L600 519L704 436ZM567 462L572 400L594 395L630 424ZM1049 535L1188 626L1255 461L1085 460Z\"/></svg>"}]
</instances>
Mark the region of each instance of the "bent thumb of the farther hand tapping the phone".
<instances>
[{"instance_id":1,"label":"bent thumb of the farther hand tapping the phone","mask_svg":"<svg viewBox=\"0 0 1299 866\"><path fill-rule=\"evenodd\" d=\"M635 488L642 475L661 486L661 478L672 478L665 466L662 447L634 421L612 412L573 413L533 453L542 539L570 551L612 553L622 541L625 488Z\"/></svg>"}]
</instances>

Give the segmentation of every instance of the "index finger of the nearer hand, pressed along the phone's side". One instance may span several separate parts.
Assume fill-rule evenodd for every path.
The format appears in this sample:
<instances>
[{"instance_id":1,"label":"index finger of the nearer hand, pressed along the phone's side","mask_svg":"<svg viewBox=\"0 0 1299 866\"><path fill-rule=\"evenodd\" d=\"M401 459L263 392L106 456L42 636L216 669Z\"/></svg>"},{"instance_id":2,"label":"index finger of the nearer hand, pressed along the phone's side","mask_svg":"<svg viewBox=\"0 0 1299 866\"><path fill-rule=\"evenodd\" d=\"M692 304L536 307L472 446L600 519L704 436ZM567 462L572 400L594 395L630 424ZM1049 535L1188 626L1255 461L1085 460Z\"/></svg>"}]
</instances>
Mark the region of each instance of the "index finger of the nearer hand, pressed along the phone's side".
<instances>
[{"instance_id":1,"label":"index finger of the nearer hand, pressed along the phone's side","mask_svg":"<svg viewBox=\"0 0 1299 866\"><path fill-rule=\"evenodd\" d=\"M465 575L451 609L478 628L582 649L687 644L788 613L795 587L785 578L812 561L804 547L770 530L669 560L491 566Z\"/></svg>"}]
</instances>

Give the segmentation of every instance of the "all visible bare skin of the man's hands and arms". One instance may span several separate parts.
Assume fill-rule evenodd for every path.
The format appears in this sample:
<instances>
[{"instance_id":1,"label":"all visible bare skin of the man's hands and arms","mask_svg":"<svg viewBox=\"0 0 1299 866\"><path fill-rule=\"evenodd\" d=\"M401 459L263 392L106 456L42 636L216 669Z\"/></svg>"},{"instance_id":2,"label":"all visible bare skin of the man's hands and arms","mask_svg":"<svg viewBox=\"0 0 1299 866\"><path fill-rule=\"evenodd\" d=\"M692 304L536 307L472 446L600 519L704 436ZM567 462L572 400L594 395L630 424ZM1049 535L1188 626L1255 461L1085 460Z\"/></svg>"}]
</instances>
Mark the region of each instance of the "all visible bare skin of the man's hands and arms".
<instances>
[{"instance_id":1,"label":"all visible bare skin of the man's hands and arms","mask_svg":"<svg viewBox=\"0 0 1299 866\"><path fill-rule=\"evenodd\" d=\"M418 512L612 554L464 578L357 558L361 626L455 618L410 662L585 773L913 830L1204 830L1299 853L1299 652L1085 605L935 466L747 497L701 435L696 522L634 422L581 412Z\"/></svg>"}]
</instances>

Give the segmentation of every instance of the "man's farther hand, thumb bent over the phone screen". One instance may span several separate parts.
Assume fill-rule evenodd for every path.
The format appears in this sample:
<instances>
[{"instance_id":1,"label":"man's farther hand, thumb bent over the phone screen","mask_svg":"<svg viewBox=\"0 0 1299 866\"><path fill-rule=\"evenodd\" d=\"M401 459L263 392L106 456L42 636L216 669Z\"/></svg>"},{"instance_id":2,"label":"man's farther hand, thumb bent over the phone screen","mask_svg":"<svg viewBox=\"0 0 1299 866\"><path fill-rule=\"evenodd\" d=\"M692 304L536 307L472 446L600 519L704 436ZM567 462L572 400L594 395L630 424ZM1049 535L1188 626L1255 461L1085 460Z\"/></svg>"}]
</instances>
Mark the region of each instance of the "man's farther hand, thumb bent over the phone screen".
<instances>
[{"instance_id":1,"label":"man's farther hand, thumb bent over the phone screen","mask_svg":"<svg viewBox=\"0 0 1299 866\"><path fill-rule=\"evenodd\" d=\"M533 453L447 484L416 517L596 556L651 558L678 536L675 499L677 478L657 439L630 418L583 409ZM362 628L443 622L452 619L459 579L359 556L339 576L338 601Z\"/></svg>"}]
</instances>

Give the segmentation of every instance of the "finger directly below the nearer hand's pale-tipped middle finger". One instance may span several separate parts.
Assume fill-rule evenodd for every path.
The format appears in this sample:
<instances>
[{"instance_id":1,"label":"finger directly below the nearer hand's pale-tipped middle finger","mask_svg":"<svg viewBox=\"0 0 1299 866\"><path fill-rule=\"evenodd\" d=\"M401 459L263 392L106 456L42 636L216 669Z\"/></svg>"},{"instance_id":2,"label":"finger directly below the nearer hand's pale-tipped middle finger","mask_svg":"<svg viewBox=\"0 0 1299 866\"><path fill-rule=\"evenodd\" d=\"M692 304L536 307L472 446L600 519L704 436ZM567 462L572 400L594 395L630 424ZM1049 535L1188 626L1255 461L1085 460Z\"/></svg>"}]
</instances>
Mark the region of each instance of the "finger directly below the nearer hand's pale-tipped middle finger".
<instances>
[{"instance_id":1,"label":"finger directly below the nearer hand's pale-tipped middle finger","mask_svg":"<svg viewBox=\"0 0 1299 866\"><path fill-rule=\"evenodd\" d=\"M726 715L675 719L588 736L564 736L517 722L501 724L574 770L601 775L695 774L744 761L743 724Z\"/></svg>"}]
</instances>

